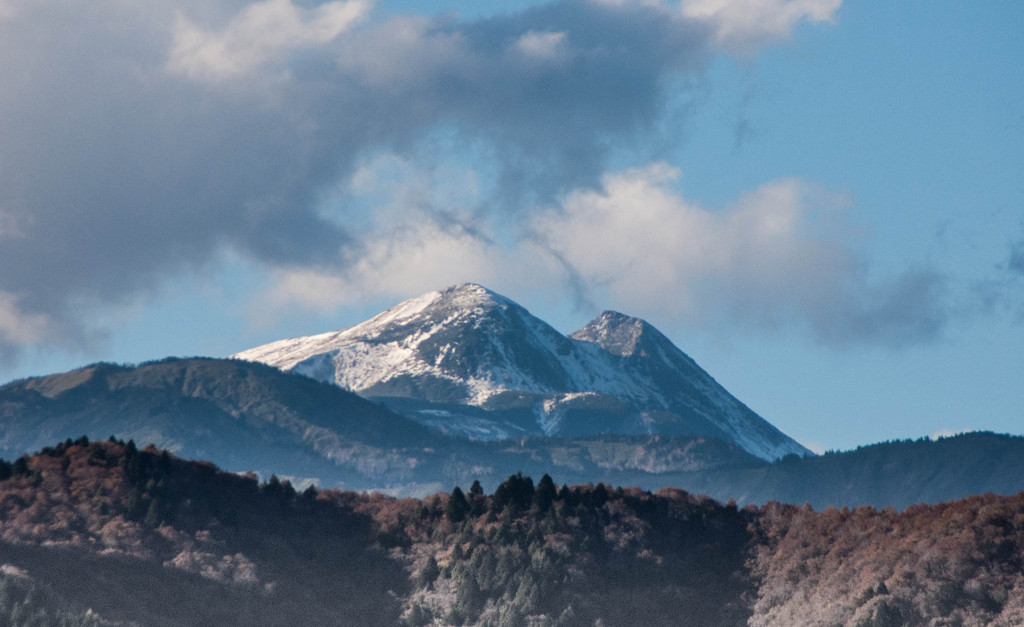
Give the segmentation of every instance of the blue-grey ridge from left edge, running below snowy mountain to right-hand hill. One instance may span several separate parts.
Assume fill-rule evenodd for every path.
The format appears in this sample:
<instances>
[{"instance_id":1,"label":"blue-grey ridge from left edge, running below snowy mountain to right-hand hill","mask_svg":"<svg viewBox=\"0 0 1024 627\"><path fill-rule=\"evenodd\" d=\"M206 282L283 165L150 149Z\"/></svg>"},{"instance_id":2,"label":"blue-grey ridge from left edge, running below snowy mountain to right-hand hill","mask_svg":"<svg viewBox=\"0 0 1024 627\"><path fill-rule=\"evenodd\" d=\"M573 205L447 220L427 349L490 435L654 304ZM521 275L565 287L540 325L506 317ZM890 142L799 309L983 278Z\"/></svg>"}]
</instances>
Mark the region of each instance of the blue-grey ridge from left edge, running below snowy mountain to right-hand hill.
<instances>
[{"instance_id":1,"label":"blue-grey ridge from left edge, running below snowy mountain to right-hand hill","mask_svg":"<svg viewBox=\"0 0 1024 627\"><path fill-rule=\"evenodd\" d=\"M0 387L0 457L115 435L299 485L423 495L516 470L660 487L669 475L762 463L713 438L447 436L337 385L238 360L96 364Z\"/></svg>"}]
</instances>

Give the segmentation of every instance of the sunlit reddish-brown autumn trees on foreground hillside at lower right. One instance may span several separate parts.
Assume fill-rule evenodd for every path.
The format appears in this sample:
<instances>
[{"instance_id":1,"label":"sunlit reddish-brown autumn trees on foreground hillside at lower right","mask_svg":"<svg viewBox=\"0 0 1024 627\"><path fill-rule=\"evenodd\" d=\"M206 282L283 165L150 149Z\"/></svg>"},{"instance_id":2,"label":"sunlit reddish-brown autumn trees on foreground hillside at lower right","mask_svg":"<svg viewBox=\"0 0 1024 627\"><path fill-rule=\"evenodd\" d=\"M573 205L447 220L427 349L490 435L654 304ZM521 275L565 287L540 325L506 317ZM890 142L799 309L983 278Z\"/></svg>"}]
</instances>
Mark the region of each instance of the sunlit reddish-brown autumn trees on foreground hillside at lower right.
<instances>
[{"instance_id":1,"label":"sunlit reddish-brown autumn trees on foreground hillside at lower right","mask_svg":"<svg viewBox=\"0 0 1024 627\"><path fill-rule=\"evenodd\" d=\"M1024 495L759 514L753 625L1024 624Z\"/></svg>"}]
</instances>

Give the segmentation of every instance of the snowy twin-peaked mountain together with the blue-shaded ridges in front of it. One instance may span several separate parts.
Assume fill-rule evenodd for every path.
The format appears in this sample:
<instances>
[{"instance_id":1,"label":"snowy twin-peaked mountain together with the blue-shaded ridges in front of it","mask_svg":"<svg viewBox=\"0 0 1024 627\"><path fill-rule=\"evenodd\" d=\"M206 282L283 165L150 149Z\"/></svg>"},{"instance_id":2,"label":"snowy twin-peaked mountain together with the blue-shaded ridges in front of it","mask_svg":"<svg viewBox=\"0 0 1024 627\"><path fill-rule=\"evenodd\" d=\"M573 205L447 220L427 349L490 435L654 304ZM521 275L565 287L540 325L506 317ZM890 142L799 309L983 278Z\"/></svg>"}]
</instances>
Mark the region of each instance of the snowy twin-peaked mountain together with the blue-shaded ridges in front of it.
<instances>
[{"instance_id":1,"label":"snowy twin-peaked mountain together with the blue-shaded ridges in front of it","mask_svg":"<svg viewBox=\"0 0 1024 627\"><path fill-rule=\"evenodd\" d=\"M236 359L95 364L0 387L0 457L81 435L299 488L413 496L474 480L493 490L516 471L816 507L1024 487L1024 438L814 456L647 323L606 311L564 336L477 285Z\"/></svg>"}]
</instances>

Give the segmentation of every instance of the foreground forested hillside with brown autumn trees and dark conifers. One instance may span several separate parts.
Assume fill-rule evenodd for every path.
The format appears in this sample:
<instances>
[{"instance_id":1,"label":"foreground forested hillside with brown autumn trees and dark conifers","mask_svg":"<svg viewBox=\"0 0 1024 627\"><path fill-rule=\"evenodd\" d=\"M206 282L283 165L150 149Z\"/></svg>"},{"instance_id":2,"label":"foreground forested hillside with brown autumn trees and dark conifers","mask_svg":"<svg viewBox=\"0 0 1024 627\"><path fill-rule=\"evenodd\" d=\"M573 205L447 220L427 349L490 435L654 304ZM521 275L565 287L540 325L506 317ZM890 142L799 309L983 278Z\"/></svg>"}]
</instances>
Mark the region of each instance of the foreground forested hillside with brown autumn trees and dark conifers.
<instances>
[{"instance_id":1,"label":"foreground forested hillside with brown autumn trees and dark conifers","mask_svg":"<svg viewBox=\"0 0 1024 627\"><path fill-rule=\"evenodd\" d=\"M816 512L517 473L394 499L113 438L0 463L10 625L1019 625L1021 547L1020 494Z\"/></svg>"}]
</instances>

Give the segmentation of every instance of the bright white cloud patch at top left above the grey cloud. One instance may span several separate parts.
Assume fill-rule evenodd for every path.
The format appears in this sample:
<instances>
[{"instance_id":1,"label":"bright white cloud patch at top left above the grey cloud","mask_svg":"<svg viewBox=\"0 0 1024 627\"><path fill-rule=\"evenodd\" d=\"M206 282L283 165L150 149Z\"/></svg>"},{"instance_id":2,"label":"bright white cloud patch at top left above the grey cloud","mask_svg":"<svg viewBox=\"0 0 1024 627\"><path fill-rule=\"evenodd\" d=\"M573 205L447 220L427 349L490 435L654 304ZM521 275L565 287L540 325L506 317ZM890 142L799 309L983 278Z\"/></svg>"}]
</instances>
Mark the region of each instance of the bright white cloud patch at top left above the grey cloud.
<instances>
[{"instance_id":1,"label":"bright white cloud patch at top left above the grey cloud","mask_svg":"<svg viewBox=\"0 0 1024 627\"><path fill-rule=\"evenodd\" d=\"M289 50L334 40L371 6L369 0L348 0L303 9L292 0L264 0L247 6L220 32L206 31L179 13L168 68L194 79L244 75Z\"/></svg>"}]
</instances>

